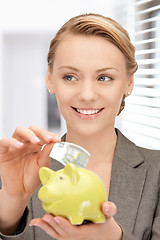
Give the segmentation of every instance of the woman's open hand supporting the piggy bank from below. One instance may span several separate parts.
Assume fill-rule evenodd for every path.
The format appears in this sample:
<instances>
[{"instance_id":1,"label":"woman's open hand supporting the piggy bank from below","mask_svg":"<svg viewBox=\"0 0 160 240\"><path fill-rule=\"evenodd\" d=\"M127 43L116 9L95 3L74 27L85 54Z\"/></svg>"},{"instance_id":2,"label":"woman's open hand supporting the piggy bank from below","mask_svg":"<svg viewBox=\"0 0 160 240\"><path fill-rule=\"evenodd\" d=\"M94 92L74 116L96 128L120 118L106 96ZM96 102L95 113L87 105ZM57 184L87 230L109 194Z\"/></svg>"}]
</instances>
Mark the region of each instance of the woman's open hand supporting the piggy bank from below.
<instances>
[{"instance_id":1,"label":"woman's open hand supporting the piggy bank from below","mask_svg":"<svg viewBox=\"0 0 160 240\"><path fill-rule=\"evenodd\" d=\"M122 230L113 216L116 206L112 202L105 202L102 211L106 216L104 223L89 223L74 226L63 217L46 214L42 219L33 219L30 226L37 226L58 240L121 240Z\"/></svg>"}]
</instances>

